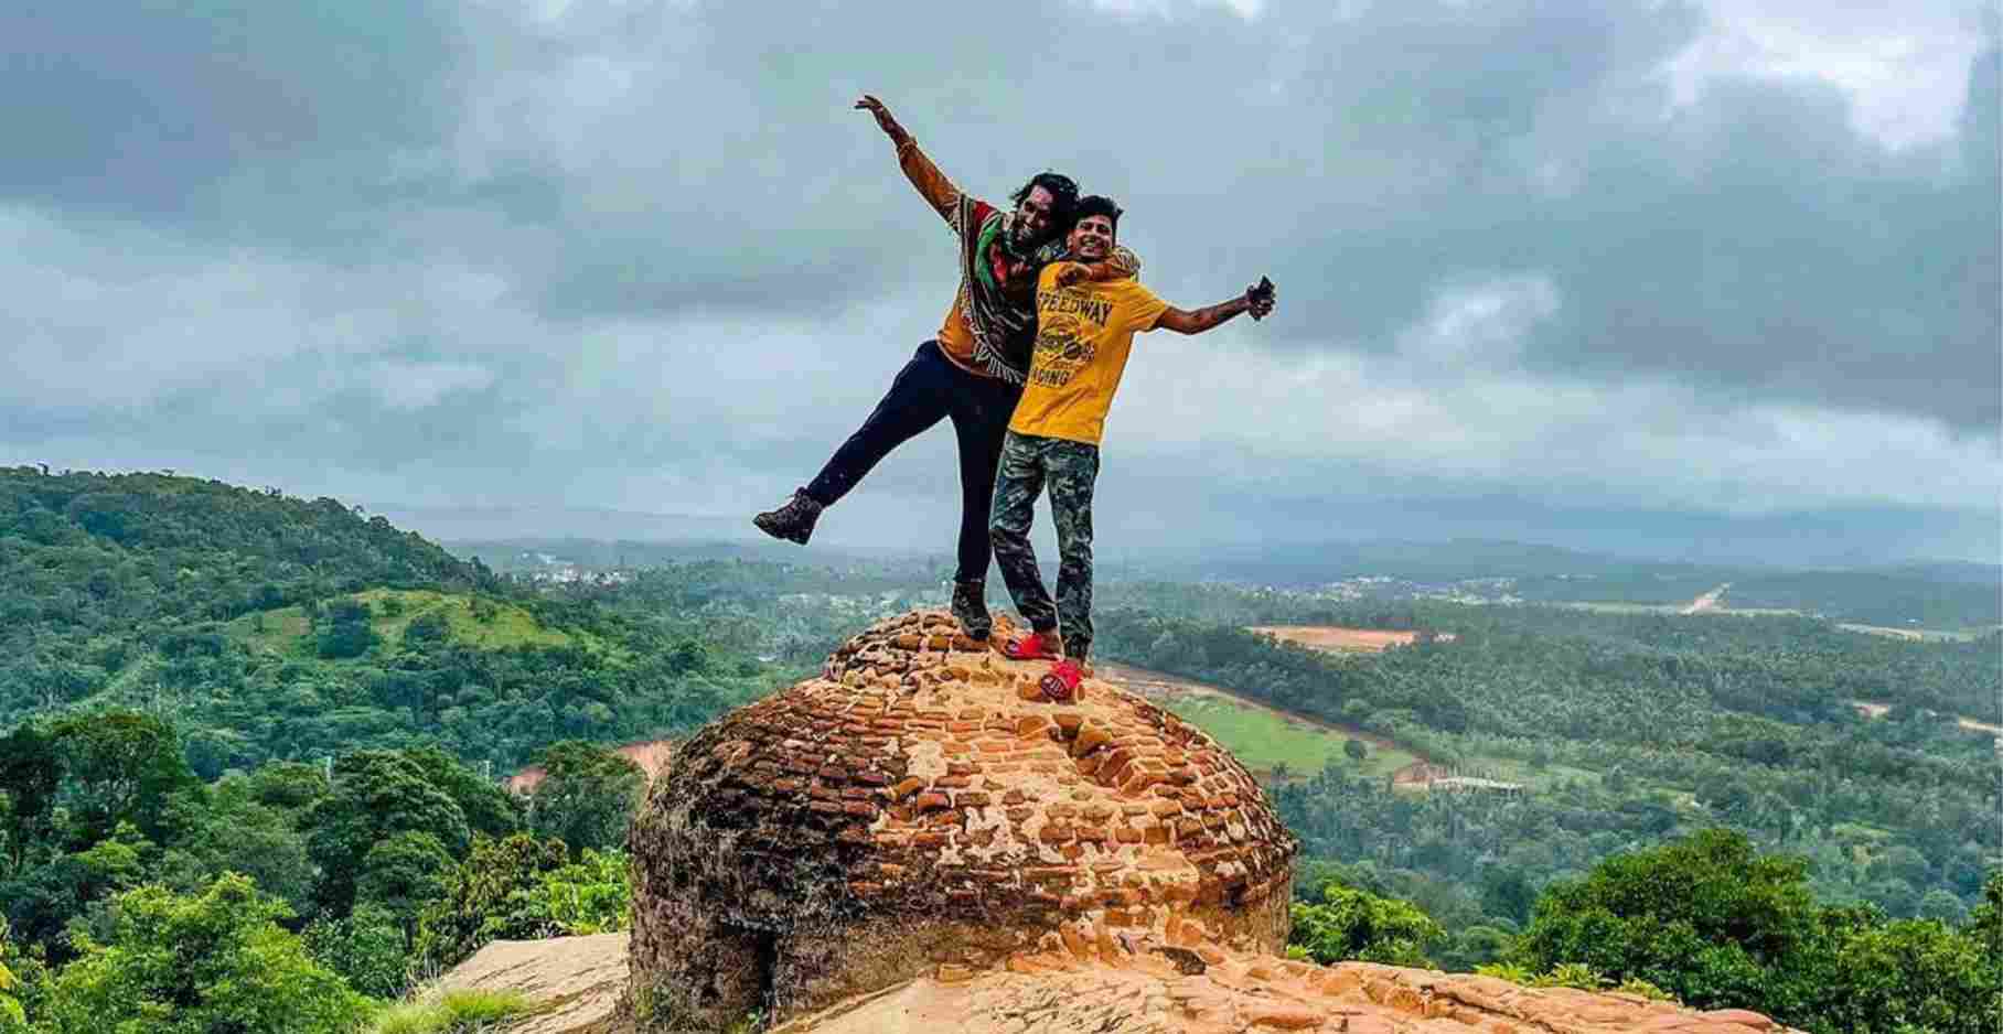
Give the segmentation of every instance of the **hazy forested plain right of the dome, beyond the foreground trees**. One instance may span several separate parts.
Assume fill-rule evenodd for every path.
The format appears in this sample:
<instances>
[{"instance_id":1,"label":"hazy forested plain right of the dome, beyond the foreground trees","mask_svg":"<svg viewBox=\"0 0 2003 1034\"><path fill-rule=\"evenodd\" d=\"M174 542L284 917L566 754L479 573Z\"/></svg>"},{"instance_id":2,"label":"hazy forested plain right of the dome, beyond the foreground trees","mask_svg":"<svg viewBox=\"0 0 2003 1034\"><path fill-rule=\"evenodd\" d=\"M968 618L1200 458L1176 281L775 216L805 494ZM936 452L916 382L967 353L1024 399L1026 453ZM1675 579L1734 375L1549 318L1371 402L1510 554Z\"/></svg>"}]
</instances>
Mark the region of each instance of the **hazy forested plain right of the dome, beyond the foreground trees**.
<instances>
[{"instance_id":1,"label":"hazy forested plain right of the dome, beyond the foreground trees","mask_svg":"<svg viewBox=\"0 0 2003 1034\"><path fill-rule=\"evenodd\" d=\"M1953 718L2003 724L1997 636L1909 642L1787 616L1294 606L1214 586L1120 594L1152 606L1108 614L1108 656L1354 724L1442 764L1516 772L1534 788L1414 796L1340 766L1302 774L1278 800L1314 854L1460 888L1500 860L1540 886L1614 850L1729 826L1813 858L1817 890L1833 900L1959 916L2003 850L1995 738ZM1438 636L1330 656L1246 624ZM1869 718L1853 700L1891 710Z\"/></svg>"}]
</instances>

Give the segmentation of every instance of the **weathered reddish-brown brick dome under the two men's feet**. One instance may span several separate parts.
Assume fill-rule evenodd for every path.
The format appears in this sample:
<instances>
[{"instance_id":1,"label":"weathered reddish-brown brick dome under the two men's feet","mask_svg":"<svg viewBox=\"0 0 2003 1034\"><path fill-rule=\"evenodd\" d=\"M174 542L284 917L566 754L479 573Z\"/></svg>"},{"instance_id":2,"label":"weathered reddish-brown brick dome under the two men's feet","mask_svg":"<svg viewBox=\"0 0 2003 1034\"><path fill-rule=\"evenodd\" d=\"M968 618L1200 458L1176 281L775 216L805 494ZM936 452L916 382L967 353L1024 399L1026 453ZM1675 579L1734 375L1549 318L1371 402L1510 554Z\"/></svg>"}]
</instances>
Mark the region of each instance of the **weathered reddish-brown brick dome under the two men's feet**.
<instances>
[{"instance_id":1,"label":"weathered reddish-brown brick dome under the two men's feet","mask_svg":"<svg viewBox=\"0 0 2003 1034\"><path fill-rule=\"evenodd\" d=\"M633 992L659 1026L785 1018L945 968L1286 940L1294 838L1196 726L889 618L705 726L633 824Z\"/></svg>"}]
</instances>

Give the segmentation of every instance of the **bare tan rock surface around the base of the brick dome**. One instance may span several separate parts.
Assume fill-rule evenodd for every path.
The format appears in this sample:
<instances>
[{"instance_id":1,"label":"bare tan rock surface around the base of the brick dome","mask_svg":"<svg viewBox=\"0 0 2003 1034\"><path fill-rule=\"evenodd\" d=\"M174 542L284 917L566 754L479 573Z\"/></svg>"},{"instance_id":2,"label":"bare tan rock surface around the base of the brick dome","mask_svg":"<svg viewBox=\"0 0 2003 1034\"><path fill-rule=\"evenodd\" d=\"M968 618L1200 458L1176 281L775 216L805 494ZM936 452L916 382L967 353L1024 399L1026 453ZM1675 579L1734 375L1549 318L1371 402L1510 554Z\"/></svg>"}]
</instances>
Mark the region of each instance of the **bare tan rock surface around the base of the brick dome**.
<instances>
[{"instance_id":1,"label":"bare tan rock surface around the base of the brick dome","mask_svg":"<svg viewBox=\"0 0 2003 1034\"><path fill-rule=\"evenodd\" d=\"M495 942L445 976L445 988L521 990L539 1012L505 1034L633 1034L613 1016L625 934ZM1757 1012L1695 1012L1664 1002L1506 980L1272 956L1226 956L1202 974L1134 958L1118 966L1024 954L1002 970L935 974L797 1016L771 1034L1745 1034L1785 1030Z\"/></svg>"}]
</instances>

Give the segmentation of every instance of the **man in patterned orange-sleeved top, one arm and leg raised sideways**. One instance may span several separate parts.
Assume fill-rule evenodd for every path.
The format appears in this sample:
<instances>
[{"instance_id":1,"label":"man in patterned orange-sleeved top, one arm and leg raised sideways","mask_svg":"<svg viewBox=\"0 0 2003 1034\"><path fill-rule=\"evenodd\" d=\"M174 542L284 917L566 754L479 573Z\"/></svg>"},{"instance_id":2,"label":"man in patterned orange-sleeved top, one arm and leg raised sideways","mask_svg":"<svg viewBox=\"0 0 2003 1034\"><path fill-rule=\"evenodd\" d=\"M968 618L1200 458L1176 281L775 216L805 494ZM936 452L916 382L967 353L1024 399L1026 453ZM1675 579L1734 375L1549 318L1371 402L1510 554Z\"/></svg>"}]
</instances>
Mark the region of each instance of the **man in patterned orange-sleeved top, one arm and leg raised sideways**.
<instances>
[{"instance_id":1,"label":"man in patterned orange-sleeved top, one arm and leg raised sideways","mask_svg":"<svg viewBox=\"0 0 2003 1034\"><path fill-rule=\"evenodd\" d=\"M995 466L1010 414L1022 398L1036 344L1036 280L1064 254L1060 234L1070 228L1078 184L1042 172L1018 190L1014 210L963 194L917 150L911 134L873 96L855 108L875 116L897 146L897 164L919 196L945 220L959 248L959 292L933 340L917 346L911 362L891 380L889 392L827 460L821 472L777 510L753 524L773 538L805 544L821 510L833 506L893 448L935 426L953 422L959 440L959 550L953 574L953 616L985 640L985 584L991 546L987 510ZM1088 280L1134 276L1140 260L1120 250L1082 272Z\"/></svg>"}]
</instances>

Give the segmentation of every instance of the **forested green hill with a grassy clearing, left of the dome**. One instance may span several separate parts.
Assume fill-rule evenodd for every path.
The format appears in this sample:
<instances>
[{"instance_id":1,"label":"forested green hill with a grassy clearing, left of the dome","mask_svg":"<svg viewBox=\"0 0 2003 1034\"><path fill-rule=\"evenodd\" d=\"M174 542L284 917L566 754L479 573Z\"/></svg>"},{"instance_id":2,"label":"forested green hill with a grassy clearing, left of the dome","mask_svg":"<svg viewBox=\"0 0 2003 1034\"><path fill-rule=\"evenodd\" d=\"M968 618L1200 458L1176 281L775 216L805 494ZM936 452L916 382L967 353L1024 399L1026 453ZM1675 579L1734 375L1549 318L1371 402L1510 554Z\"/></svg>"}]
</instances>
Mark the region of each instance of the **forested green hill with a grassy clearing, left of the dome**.
<instances>
[{"instance_id":1,"label":"forested green hill with a grassy clearing, left of the dome","mask_svg":"<svg viewBox=\"0 0 2003 1034\"><path fill-rule=\"evenodd\" d=\"M168 474L0 468L0 730L134 706L216 776L685 730L777 674L671 614L545 600L385 518Z\"/></svg>"}]
</instances>

